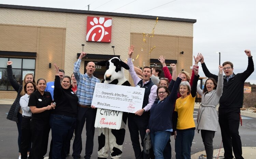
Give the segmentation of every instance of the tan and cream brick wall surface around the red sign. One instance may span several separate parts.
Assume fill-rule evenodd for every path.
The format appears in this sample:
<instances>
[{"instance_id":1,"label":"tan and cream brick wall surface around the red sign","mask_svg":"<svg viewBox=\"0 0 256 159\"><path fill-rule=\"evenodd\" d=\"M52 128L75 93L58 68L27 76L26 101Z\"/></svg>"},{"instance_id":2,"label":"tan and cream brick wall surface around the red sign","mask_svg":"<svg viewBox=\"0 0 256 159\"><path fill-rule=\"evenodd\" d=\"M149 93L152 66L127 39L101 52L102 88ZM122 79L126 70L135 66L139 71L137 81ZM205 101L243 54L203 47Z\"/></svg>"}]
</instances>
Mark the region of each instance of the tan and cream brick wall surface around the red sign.
<instances>
[{"instance_id":1,"label":"tan and cream brick wall surface around the red sign","mask_svg":"<svg viewBox=\"0 0 256 159\"><path fill-rule=\"evenodd\" d=\"M0 15L0 25L4 26L0 28L0 34L2 35L2 32L7 34L7 28L11 25L14 25L12 30L18 33L15 36L18 38L18 41L16 41L18 44L15 48L12 49L12 47L8 46L8 42L0 41L0 50L37 52L36 74L46 76L45 78L49 81L52 81L54 78L53 68L47 68L50 62L52 64L56 62L60 68L65 69L67 75L71 75L73 64L77 60L76 54L82 51L82 43L85 44L84 50L88 54L113 55L113 48L111 46L115 46L115 54L120 55L122 60L128 57L128 46L134 44L136 46L134 54L136 56L139 54L139 58L134 61L135 65L142 66L143 61L148 65L150 58L158 58L159 55L163 54L167 59L178 60L178 70L184 69L191 72L193 23L190 22L158 20L155 28L156 36L150 39L147 38L147 43L143 45L142 33L149 34L152 32L155 19L8 8L0 8ZM87 16L112 18L111 43L86 42ZM19 31L21 29L22 31ZM22 35L28 32L31 32L30 34L33 35ZM51 38L42 36L42 33ZM20 39L20 36L24 38ZM10 38L13 39L13 37ZM34 42L35 39L36 43ZM26 47L21 49L20 47L24 45L24 41L25 43L31 41L31 43L26 44ZM156 46L156 48L151 54L148 54L152 46ZM143 47L144 52L141 52L141 47ZM183 55L180 54L181 51L184 51ZM81 64L81 72L83 73L84 63ZM42 71L37 68L42 68ZM125 74L129 78L128 71ZM36 76L36 78L38 77Z\"/></svg>"}]
</instances>

